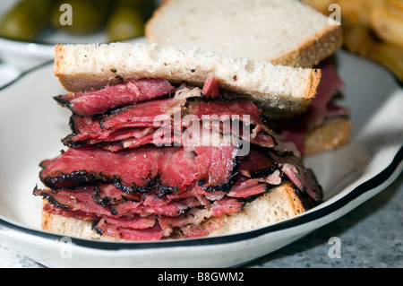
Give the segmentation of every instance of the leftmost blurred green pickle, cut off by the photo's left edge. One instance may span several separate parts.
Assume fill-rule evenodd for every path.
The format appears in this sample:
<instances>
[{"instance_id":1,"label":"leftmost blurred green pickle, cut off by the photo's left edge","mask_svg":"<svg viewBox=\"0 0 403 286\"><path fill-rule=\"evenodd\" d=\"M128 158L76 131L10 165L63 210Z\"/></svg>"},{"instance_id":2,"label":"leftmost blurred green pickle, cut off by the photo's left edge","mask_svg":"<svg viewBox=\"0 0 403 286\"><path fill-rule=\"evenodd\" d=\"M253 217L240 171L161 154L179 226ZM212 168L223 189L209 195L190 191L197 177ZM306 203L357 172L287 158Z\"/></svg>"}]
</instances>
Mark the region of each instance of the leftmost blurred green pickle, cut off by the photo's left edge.
<instances>
[{"instance_id":1,"label":"leftmost blurred green pickle, cut off by the photo's left edge","mask_svg":"<svg viewBox=\"0 0 403 286\"><path fill-rule=\"evenodd\" d=\"M49 21L53 4L52 0L19 1L0 20L0 35L18 40L34 39Z\"/></svg>"}]
</instances>

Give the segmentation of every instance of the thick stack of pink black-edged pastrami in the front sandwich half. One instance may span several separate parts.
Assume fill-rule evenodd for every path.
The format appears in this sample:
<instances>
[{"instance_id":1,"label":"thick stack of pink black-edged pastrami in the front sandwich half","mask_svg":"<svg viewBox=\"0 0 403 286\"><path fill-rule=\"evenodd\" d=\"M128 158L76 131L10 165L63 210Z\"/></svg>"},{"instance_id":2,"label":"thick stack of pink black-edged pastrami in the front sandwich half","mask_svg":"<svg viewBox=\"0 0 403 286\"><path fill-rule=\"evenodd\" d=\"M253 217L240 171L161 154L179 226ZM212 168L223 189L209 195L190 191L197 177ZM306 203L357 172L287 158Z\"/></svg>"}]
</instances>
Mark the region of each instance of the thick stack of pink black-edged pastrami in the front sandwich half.
<instances>
[{"instance_id":1,"label":"thick stack of pink black-edged pastrami in the front sandwich half","mask_svg":"<svg viewBox=\"0 0 403 286\"><path fill-rule=\"evenodd\" d=\"M72 134L41 162L46 187L34 195L47 199L44 212L91 221L100 235L205 236L285 180L322 199L312 171L276 143L253 102L220 91L214 77L202 89L141 79L55 99L72 110Z\"/></svg>"}]
</instances>

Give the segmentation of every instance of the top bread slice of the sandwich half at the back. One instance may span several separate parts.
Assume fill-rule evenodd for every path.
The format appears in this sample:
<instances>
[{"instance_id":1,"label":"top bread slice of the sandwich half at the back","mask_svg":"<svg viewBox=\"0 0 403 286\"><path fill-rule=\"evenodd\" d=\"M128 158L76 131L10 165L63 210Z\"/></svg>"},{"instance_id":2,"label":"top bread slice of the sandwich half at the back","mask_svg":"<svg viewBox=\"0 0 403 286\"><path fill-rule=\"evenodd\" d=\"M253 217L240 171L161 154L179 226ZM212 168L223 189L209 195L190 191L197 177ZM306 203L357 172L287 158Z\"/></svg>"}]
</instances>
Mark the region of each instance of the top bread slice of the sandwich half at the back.
<instances>
[{"instance_id":1,"label":"top bread slice of the sandwich half at the back","mask_svg":"<svg viewBox=\"0 0 403 286\"><path fill-rule=\"evenodd\" d=\"M341 47L342 30L296 0L166 0L147 23L146 38L312 67Z\"/></svg>"}]
</instances>

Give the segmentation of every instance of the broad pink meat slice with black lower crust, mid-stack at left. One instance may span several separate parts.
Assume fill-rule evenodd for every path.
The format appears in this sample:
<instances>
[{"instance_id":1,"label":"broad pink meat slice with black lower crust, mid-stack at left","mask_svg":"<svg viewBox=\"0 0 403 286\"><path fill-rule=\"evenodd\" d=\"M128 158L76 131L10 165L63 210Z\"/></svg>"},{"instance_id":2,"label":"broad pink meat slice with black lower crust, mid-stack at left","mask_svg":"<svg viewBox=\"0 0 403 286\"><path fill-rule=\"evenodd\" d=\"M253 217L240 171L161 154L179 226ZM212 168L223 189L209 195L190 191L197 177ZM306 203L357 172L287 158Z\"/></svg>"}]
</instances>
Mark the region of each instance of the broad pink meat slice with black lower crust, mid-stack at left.
<instances>
[{"instance_id":1,"label":"broad pink meat slice with black lower crust, mid-stack at left","mask_svg":"<svg viewBox=\"0 0 403 286\"><path fill-rule=\"evenodd\" d=\"M53 160L44 160L39 177L46 186L56 189L97 181L117 181L119 186L135 189L150 185L157 177L160 184L181 189L196 178L194 161L193 153L179 147L143 146L108 152L82 146L69 148Z\"/></svg>"}]
</instances>

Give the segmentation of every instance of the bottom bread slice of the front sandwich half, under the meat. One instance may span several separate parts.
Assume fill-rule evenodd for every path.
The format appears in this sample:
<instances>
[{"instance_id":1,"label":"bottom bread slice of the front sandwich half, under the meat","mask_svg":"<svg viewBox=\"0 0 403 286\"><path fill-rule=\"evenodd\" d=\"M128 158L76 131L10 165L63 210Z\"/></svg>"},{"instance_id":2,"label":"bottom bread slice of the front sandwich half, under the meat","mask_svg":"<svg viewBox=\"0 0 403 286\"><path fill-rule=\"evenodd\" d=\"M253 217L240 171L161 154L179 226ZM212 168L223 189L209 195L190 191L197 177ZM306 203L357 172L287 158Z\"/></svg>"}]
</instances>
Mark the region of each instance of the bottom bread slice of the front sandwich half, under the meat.
<instances>
[{"instance_id":1,"label":"bottom bread slice of the front sandwich half, under the meat","mask_svg":"<svg viewBox=\"0 0 403 286\"><path fill-rule=\"evenodd\" d=\"M44 204L47 202L44 200ZM283 183L273 187L269 192L260 195L250 203L246 203L242 212L224 214L223 217L215 218L224 221L222 227L213 230L210 236L225 235L245 230L253 230L284 221L305 212L302 201L296 195L294 186ZM211 218L209 219L211 220ZM80 221L67 218L59 214L42 212L42 229L60 235L76 238L96 239L102 241L121 241L107 235L100 236L91 230L91 221Z\"/></svg>"}]
</instances>

